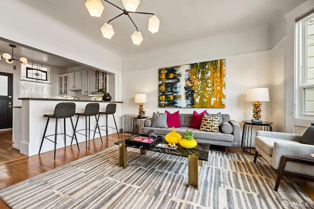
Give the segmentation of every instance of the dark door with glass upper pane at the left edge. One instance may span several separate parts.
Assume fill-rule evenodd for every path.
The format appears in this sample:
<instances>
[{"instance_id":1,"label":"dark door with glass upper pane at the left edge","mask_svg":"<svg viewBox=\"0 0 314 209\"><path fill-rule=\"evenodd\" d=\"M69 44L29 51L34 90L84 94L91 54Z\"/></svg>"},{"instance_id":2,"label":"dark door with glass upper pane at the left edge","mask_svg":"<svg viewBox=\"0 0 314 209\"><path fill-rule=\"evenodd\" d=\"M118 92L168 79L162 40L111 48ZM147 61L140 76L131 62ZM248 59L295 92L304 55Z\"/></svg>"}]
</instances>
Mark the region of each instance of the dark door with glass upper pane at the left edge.
<instances>
[{"instance_id":1,"label":"dark door with glass upper pane at the left edge","mask_svg":"<svg viewBox=\"0 0 314 209\"><path fill-rule=\"evenodd\" d=\"M13 74L0 72L0 129L12 128Z\"/></svg>"}]
</instances>

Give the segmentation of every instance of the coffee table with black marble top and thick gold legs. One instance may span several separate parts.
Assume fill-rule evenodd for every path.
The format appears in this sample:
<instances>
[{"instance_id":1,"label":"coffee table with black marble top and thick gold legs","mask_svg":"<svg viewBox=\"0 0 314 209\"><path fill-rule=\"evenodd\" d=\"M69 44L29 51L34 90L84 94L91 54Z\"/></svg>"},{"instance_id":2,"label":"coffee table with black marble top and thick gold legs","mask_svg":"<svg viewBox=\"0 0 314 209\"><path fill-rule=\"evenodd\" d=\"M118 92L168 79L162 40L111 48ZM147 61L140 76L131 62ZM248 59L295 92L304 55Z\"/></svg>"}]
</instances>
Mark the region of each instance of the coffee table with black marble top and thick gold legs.
<instances>
[{"instance_id":1,"label":"coffee table with black marble top and thick gold legs","mask_svg":"<svg viewBox=\"0 0 314 209\"><path fill-rule=\"evenodd\" d=\"M168 142L166 142L164 138L158 143L168 144ZM140 149L141 155L146 155L146 151L153 151L169 155L188 157L188 186L195 186L197 189L198 166L203 166L203 161L208 161L210 147L210 144L208 143L197 143L197 146L195 148L186 149L178 144L177 150L171 150L166 148L157 148L155 146L146 147L140 145L129 145L125 143L125 140L118 141L114 144L119 145L119 167L123 166L124 168L127 167L127 147Z\"/></svg>"}]
</instances>

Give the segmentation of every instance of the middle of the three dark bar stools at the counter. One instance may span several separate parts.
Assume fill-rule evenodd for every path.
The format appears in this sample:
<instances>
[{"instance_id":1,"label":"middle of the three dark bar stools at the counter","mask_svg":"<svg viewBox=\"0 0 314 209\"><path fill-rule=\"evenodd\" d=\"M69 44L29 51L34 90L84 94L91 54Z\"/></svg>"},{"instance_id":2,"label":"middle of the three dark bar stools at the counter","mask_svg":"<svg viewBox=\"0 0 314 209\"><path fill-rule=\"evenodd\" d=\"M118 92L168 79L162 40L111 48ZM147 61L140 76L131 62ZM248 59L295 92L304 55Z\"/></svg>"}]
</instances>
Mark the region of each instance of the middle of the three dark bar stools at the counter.
<instances>
[{"instance_id":1,"label":"middle of the three dark bar stools at the counter","mask_svg":"<svg viewBox=\"0 0 314 209\"><path fill-rule=\"evenodd\" d=\"M86 149L87 149L87 137L89 140L90 131L94 131L94 130L90 129L90 116L95 116L96 128L98 127L98 131L100 132L99 125L98 125L98 118L96 116L99 114L99 103L86 104L84 113L75 113L75 114L78 116L78 118L79 118L79 116L85 116L85 129L77 130L77 126L78 126L78 118L77 118L77 122L75 124L75 132L85 136L85 143L86 143ZM87 129L87 117L88 117L88 129ZM85 130L85 134L78 132L78 131L83 131L83 130ZM87 130L88 130L88 134L87 134ZM96 131L96 129L95 129L95 131ZM94 131L94 137L95 137L95 131ZM102 139L101 134L100 134L100 139L102 140L102 143L103 143L103 139ZM71 144L72 144L72 142L73 142L73 138L72 138Z\"/></svg>"}]
</instances>

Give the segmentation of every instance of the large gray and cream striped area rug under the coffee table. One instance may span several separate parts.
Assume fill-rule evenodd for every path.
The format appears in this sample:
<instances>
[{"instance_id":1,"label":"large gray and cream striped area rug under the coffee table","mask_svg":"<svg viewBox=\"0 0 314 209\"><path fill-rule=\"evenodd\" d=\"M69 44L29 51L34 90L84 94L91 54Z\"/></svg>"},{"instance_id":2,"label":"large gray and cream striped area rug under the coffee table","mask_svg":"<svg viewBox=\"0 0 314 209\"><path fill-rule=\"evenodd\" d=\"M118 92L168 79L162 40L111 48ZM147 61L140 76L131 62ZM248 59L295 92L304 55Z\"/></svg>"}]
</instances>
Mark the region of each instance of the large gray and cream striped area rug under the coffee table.
<instances>
[{"instance_id":1,"label":"large gray and cream striped area rug under the coffee table","mask_svg":"<svg viewBox=\"0 0 314 209\"><path fill-rule=\"evenodd\" d=\"M118 167L118 147L53 169L0 190L13 209L289 208L314 206L292 181L259 157L210 151L199 167L199 189L187 186L187 158L128 148Z\"/></svg>"}]
</instances>

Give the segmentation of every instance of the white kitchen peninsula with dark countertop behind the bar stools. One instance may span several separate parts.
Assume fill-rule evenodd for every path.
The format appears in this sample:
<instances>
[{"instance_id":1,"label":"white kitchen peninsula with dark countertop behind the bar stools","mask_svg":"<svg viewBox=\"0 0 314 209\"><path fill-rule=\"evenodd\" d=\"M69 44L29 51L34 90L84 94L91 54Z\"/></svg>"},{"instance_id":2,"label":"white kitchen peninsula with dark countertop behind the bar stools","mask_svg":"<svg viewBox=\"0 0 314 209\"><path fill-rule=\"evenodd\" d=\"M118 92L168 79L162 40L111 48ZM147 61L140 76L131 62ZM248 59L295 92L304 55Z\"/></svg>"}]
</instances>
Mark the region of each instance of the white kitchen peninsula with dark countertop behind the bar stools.
<instances>
[{"instance_id":1,"label":"white kitchen peninsula with dark countertop behind the bar stools","mask_svg":"<svg viewBox=\"0 0 314 209\"><path fill-rule=\"evenodd\" d=\"M92 100L69 100L69 99L47 99L47 98L19 98L22 100L22 108L13 108L13 147L20 150L20 153L26 156L38 155L39 147L45 131L45 125L47 118L43 117L45 114L53 114L56 104L60 102L71 102L76 104L76 112L83 113L85 111L86 104L97 102L99 103L99 111L105 112L107 104L117 104L115 120L118 126L118 130L122 127L122 102L117 101L105 101L98 102ZM73 122L77 120L77 116L72 117ZM64 133L63 119L59 120L58 133ZM101 115L99 118L99 125L105 126L105 116ZM96 122L94 117L90 117L90 127L94 130ZM108 116L108 127L114 127L114 120L112 116ZM103 127L104 128L104 127ZM46 135L54 134L55 119L51 120ZM85 129L85 118L79 117L77 130ZM115 129L108 129L108 134L115 133ZM69 135L73 134L72 125L70 119L66 119L66 132ZM84 133L85 131L79 131ZM90 132L91 140L93 139L93 131ZM105 135L105 131L102 131L102 136ZM52 139L54 136L51 136ZM85 142L85 136L77 134L78 143ZM96 133L95 138L99 138L100 135ZM70 146L71 137L66 137L66 145ZM105 142L104 142L105 143ZM75 143L73 143L76 146ZM59 134L57 136L57 149L65 146L64 135ZM88 148L88 146L87 146ZM54 150L54 144L49 140L44 140L41 153ZM74 149L76 150L76 149Z\"/></svg>"}]
</instances>

